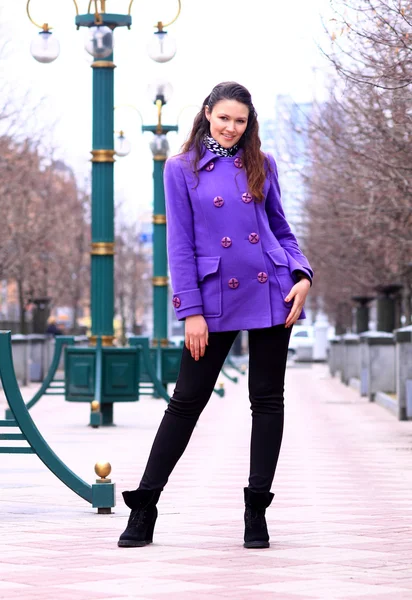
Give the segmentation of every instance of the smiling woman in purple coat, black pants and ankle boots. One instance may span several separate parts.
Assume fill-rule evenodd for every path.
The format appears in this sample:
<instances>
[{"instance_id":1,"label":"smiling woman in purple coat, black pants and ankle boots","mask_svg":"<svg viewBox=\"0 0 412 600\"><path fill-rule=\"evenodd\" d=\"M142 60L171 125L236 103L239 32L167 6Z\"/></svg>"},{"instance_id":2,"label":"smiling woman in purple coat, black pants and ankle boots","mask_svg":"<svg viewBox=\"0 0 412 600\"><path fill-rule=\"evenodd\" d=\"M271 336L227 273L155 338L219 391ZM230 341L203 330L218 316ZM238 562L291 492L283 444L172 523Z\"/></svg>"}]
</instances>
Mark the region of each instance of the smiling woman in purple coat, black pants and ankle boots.
<instances>
[{"instance_id":1,"label":"smiling woman in purple coat, black pants and ankle boots","mask_svg":"<svg viewBox=\"0 0 412 600\"><path fill-rule=\"evenodd\" d=\"M252 437L244 488L246 548L269 547L265 510L283 433L292 325L313 276L285 219L274 159L260 150L250 93L233 82L205 99L182 153L165 168L173 305L185 321L179 377L119 546L153 539L156 504L240 330L249 332Z\"/></svg>"}]
</instances>

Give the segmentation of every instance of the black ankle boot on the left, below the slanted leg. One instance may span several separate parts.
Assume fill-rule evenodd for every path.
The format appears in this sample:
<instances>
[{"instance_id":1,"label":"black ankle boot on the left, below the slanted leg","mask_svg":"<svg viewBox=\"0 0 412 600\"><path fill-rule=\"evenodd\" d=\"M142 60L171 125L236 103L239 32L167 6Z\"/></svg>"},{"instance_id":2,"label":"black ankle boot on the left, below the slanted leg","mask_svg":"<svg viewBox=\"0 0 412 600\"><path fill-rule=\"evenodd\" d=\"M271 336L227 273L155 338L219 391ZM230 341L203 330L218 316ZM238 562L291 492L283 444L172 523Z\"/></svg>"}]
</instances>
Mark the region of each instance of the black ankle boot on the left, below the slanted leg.
<instances>
[{"instance_id":1,"label":"black ankle boot on the left, below the slanted leg","mask_svg":"<svg viewBox=\"0 0 412 600\"><path fill-rule=\"evenodd\" d=\"M123 492L125 504L131 509L127 527L117 542L122 548L147 546L153 541L157 519L156 504L161 490Z\"/></svg>"}]
</instances>

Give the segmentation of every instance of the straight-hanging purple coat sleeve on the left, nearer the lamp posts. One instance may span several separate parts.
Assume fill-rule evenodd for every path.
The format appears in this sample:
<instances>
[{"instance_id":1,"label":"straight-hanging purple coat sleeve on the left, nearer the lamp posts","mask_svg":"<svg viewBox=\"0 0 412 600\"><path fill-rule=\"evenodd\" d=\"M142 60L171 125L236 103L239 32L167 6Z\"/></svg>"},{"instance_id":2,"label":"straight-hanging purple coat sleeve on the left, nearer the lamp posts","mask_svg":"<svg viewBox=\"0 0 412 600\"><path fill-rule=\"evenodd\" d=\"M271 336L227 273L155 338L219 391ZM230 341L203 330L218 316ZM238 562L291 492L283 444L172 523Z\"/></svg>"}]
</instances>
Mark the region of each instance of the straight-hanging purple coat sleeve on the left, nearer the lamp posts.
<instances>
[{"instance_id":1,"label":"straight-hanging purple coat sleeve on the left, nearer the lamp posts","mask_svg":"<svg viewBox=\"0 0 412 600\"><path fill-rule=\"evenodd\" d=\"M180 161L165 165L167 253L173 289L173 306L179 320L203 314L195 260L193 212Z\"/></svg>"}]
</instances>

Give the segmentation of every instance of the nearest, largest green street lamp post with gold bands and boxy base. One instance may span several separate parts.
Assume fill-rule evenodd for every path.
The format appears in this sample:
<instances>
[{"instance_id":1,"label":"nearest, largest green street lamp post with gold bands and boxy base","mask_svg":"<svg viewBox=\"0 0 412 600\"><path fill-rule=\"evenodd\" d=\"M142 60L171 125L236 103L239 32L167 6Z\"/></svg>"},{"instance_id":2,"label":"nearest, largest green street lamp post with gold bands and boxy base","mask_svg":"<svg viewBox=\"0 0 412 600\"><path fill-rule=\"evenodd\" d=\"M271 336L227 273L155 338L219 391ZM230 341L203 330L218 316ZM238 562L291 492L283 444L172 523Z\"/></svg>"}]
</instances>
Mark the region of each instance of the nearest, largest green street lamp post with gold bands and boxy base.
<instances>
[{"instance_id":1,"label":"nearest, largest green street lamp post with gold bands and boxy base","mask_svg":"<svg viewBox=\"0 0 412 600\"><path fill-rule=\"evenodd\" d=\"M51 27L49 27L47 23L44 25L39 25L33 21L30 16L30 2L31 0L27 1L26 7L28 17L36 27L41 29L39 38L36 40L36 42L32 43L32 55L40 62L50 63L55 60L59 54L59 43L56 38L52 37L53 34L50 31ZM180 0L177 0L177 2L179 6L179 15ZM115 162L114 155L116 154L116 150L114 149L113 139L113 112L114 69L116 65L113 62L113 31L117 27L127 27L130 29L132 24L132 17L130 13L133 0L130 1L128 14L126 15L107 13L106 0L90 0L88 2L87 13L85 14L79 14L76 0L73 0L73 3L76 9L75 25L77 26L77 29L80 27L86 28L86 50L94 57L94 61L91 64L93 69L93 145L91 151L92 335L90 342L96 345L97 350L95 355L88 355L86 360L86 355L84 353L78 353L76 355L76 351L79 352L80 349L70 349L72 363L66 361L66 365L68 365L66 370L66 399L74 401L87 400L88 396L92 394L93 391L90 392L90 377L86 377L85 373L89 370L94 371L96 390L98 382L101 383L100 390L97 390L95 393L95 399L100 401L100 412L102 414L103 424L111 425L113 423L113 400L110 400L110 393L116 395L117 398L123 393L123 389L124 394L128 394L129 400L136 400L138 398L138 391L136 391L133 388L133 385L130 383L133 377L136 379L136 371L134 370L133 373L131 372L134 369L132 364L134 358L131 357L130 354L127 355L128 349L111 349L111 358L107 356L106 362L104 362L106 360L105 354L100 351L102 346L112 346L114 342L113 318L115 249L113 176ZM90 12L92 4L94 7L94 12ZM172 22L177 19L177 16ZM162 22L158 22L155 27L157 31L163 31L163 28L166 25L164 25ZM170 60L173 55L174 54L169 52L169 58L167 60ZM165 46L163 46L163 58L165 57ZM122 142L124 143L124 140L122 140ZM122 152L122 150L120 150L120 152ZM119 350L120 353L121 350L124 350L124 358L119 359L115 350ZM66 355L66 358L67 356L68 354ZM99 361L103 362L98 364ZM81 365L83 365L83 367ZM84 371L85 368L86 371ZM114 382L113 378L116 376L118 376L118 381ZM80 388L82 388L80 381L83 381L83 390L81 393L79 392ZM128 391L125 391L126 388ZM104 390L106 390L108 394L106 398L104 396L106 393ZM70 396L71 394L72 396ZM122 398L122 400L125 399L126 398Z\"/></svg>"}]
</instances>

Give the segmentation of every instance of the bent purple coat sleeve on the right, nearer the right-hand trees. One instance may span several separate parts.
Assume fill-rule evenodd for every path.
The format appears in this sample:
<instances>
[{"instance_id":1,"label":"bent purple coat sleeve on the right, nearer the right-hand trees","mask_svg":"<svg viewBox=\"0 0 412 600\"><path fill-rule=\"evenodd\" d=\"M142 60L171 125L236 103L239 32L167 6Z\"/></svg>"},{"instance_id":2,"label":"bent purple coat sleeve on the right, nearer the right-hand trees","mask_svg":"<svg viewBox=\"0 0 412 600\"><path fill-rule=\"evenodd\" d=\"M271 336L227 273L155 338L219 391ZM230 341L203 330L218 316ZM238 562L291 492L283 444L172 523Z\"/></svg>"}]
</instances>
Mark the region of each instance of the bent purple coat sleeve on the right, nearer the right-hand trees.
<instances>
[{"instance_id":1,"label":"bent purple coat sleeve on the right, nearer the right-hand trees","mask_svg":"<svg viewBox=\"0 0 412 600\"><path fill-rule=\"evenodd\" d=\"M306 256L301 252L283 211L275 159L270 154L267 157L272 170L268 174L269 190L266 197L266 214L268 215L270 229L286 252L289 268L295 281L299 281L301 273L304 273L312 283L312 268Z\"/></svg>"}]
</instances>

